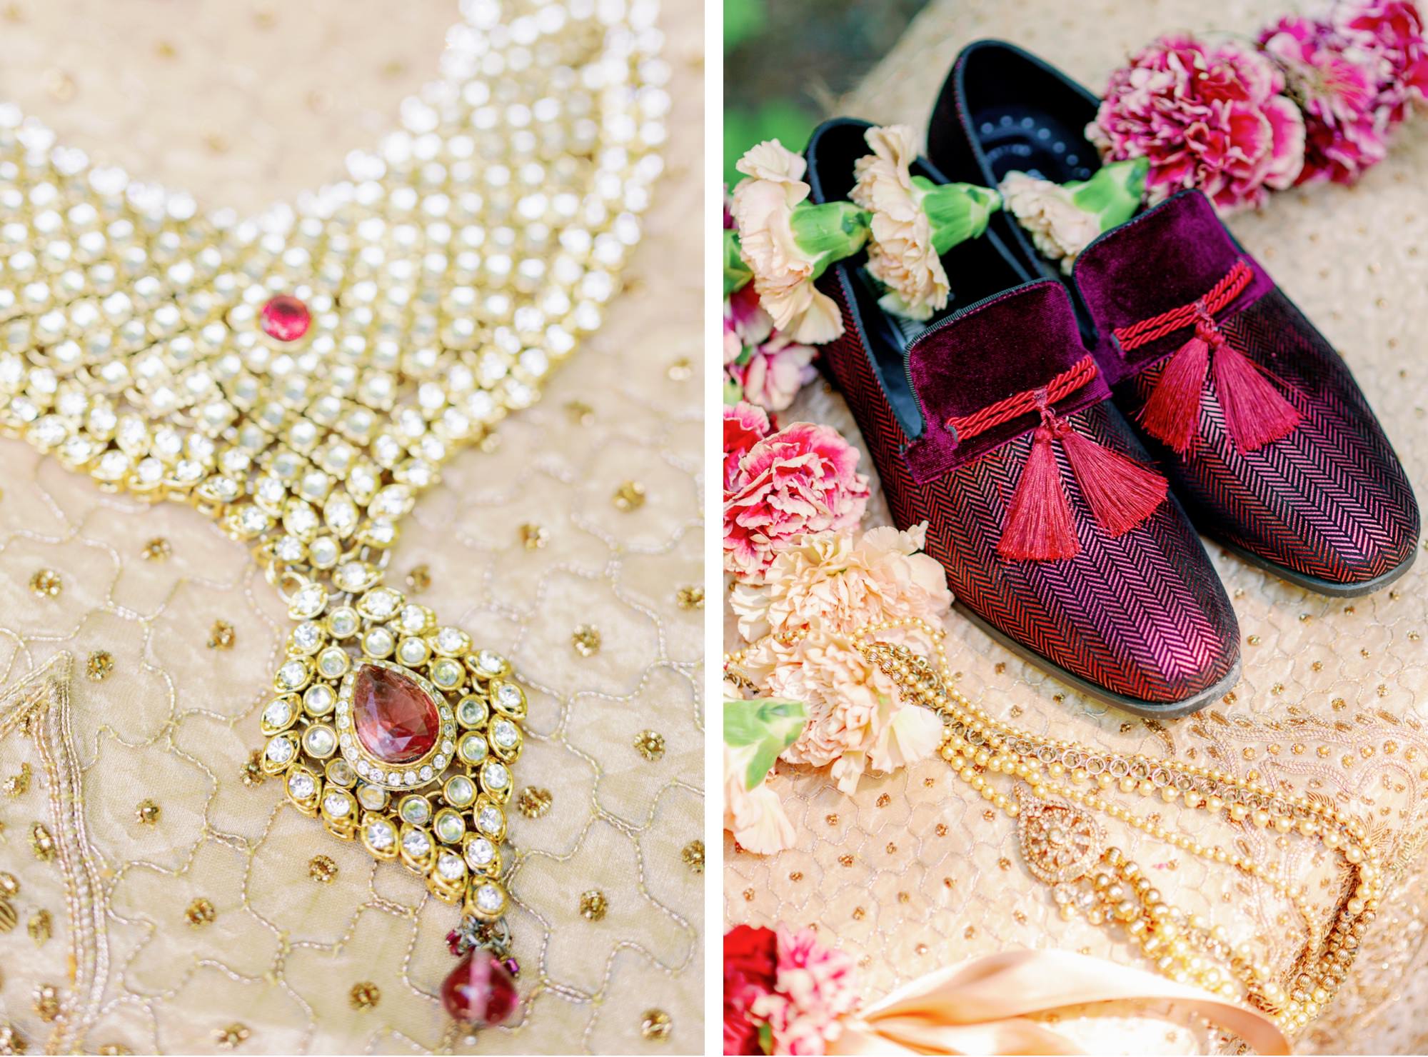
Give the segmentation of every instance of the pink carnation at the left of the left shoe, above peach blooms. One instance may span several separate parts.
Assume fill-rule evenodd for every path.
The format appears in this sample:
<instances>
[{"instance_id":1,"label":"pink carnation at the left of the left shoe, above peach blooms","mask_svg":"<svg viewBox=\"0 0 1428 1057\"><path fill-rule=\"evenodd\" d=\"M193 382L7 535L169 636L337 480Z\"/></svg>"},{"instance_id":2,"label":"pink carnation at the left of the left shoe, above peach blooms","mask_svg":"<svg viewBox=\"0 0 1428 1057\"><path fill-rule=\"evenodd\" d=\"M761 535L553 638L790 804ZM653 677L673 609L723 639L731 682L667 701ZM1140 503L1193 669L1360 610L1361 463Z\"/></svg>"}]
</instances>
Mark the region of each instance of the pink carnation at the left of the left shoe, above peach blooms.
<instances>
[{"instance_id":1,"label":"pink carnation at the left of the left shoe, above peach blooms","mask_svg":"<svg viewBox=\"0 0 1428 1057\"><path fill-rule=\"evenodd\" d=\"M755 583L793 537L851 528L868 504L858 450L835 429L794 423L750 446L758 416L724 411L724 568Z\"/></svg>"}]
</instances>

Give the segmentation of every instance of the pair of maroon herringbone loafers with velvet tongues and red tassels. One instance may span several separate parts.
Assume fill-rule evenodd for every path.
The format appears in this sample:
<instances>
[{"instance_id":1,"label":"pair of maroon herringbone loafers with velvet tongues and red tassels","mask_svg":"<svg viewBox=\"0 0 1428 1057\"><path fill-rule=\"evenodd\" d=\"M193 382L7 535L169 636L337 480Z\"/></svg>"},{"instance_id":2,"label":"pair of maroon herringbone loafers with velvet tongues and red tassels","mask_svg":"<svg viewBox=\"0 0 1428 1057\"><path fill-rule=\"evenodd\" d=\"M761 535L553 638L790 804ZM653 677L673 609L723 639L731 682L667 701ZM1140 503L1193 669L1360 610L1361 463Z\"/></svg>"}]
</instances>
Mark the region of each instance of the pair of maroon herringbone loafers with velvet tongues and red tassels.
<instances>
[{"instance_id":1,"label":"pair of maroon herringbone loafers with velvet tongues and red tassels","mask_svg":"<svg viewBox=\"0 0 1428 1057\"><path fill-rule=\"evenodd\" d=\"M1095 109L1041 60L980 41L914 174L1084 180ZM814 201L848 196L868 127L814 133ZM958 608L1017 653L1097 698L1181 716L1240 674L1198 533L1331 596L1412 564L1418 507L1378 420L1200 191L1104 233L1068 277L1005 213L942 266L955 303L915 334L880 309L861 259L828 269L845 326L823 363L895 523L928 523Z\"/></svg>"}]
</instances>

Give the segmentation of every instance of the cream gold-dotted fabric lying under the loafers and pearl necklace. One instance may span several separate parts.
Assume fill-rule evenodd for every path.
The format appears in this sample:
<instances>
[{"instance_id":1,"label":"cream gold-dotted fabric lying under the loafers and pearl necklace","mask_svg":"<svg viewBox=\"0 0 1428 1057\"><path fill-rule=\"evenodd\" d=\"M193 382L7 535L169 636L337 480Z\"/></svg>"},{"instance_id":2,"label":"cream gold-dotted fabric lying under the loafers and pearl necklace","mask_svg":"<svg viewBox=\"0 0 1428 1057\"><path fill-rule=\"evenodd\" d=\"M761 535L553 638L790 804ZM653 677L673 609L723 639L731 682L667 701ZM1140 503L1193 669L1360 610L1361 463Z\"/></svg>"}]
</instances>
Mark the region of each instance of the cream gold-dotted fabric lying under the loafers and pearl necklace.
<instances>
[{"instance_id":1,"label":"cream gold-dotted fabric lying under the loafers and pearl necklace","mask_svg":"<svg viewBox=\"0 0 1428 1057\"><path fill-rule=\"evenodd\" d=\"M1194 6L1118 3L1068 6L934 0L900 46L837 113L925 129L958 49L1001 37L1044 54L1092 89L1158 31L1250 33L1291 6L1208 0ZM1258 216L1235 217L1237 237L1271 270L1342 351L1402 456L1419 499L1428 496L1428 367L1421 321L1428 316L1428 123L1395 137L1389 159L1355 189L1281 194ZM955 289L957 277L952 276ZM810 387L783 421L811 419L857 439L841 399ZM864 456L863 469L871 470ZM887 523L885 506L867 524ZM1240 777L1259 774L1297 791L1332 797L1371 818L1395 878L1354 976L1335 1004L1298 1040L1321 1053L1422 1053L1418 1013L1428 993L1428 568L1391 591L1349 603L1307 594L1210 548L1245 634L1244 677L1232 700L1197 717L1154 723L1107 710L1018 661L951 617L948 653L961 690L994 714L1038 733L1124 751L1207 757ZM725 634L734 634L730 624ZM798 847L760 858L725 844L730 923L815 924L853 951L867 994L881 994L938 966L1008 947L1061 947L1135 957L1084 920L1061 921L1050 891L1020 860L1007 820L940 761L865 781L840 796L823 773L780 768L774 787L790 804ZM1167 808L1168 811L1171 808ZM1177 818L1182 817L1177 811ZM1190 824L1201 827L1198 818ZM1208 868L1148 838L1108 827L1154 870L1167 900L1224 924L1235 940L1264 943L1282 970L1302 933L1279 906L1228 868ZM1227 830L1217 828L1224 837ZM1328 907L1338 878L1307 843L1247 834L1254 854L1304 876ZM1181 1027L1100 1023L1091 1051L1217 1047Z\"/></svg>"}]
</instances>

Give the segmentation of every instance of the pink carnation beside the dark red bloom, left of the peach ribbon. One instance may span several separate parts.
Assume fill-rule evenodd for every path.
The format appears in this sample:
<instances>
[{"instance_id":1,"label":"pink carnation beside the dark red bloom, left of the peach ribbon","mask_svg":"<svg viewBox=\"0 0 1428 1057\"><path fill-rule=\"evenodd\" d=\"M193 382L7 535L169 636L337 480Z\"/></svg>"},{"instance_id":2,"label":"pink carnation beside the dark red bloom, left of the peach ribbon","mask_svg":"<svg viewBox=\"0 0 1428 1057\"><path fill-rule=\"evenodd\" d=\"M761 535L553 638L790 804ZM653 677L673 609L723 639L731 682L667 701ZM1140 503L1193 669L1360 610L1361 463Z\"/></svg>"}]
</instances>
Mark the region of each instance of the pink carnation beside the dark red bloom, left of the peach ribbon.
<instances>
[{"instance_id":1,"label":"pink carnation beside the dark red bloom, left of the peach ribbon","mask_svg":"<svg viewBox=\"0 0 1428 1057\"><path fill-rule=\"evenodd\" d=\"M838 1023L858 1004L853 957L821 946L811 928L778 926L774 991L750 1013L768 1021L775 1054L823 1054L841 1033Z\"/></svg>"}]
</instances>

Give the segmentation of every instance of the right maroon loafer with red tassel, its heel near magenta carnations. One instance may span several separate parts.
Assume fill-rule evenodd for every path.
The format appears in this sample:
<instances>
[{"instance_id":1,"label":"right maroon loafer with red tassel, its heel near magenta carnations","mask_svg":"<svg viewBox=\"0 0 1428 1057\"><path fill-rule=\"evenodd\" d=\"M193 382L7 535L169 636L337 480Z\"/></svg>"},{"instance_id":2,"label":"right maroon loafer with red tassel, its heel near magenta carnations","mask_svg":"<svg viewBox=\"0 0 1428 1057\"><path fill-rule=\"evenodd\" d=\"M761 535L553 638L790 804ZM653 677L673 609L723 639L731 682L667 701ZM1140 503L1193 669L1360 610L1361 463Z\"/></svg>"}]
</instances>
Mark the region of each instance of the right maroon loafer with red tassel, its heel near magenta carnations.
<instances>
[{"instance_id":1,"label":"right maroon loafer with red tassel, its heel near magenta carnations","mask_svg":"<svg viewBox=\"0 0 1428 1057\"><path fill-rule=\"evenodd\" d=\"M928 150L952 180L1084 180L1100 166L1082 131L1097 103L1035 56L975 41L942 87ZM991 230L1018 270L1060 276L1010 217ZM1101 236L1071 293L1117 407L1201 531L1321 594L1367 594L1408 571L1418 504L1382 427L1201 193Z\"/></svg>"}]
</instances>

